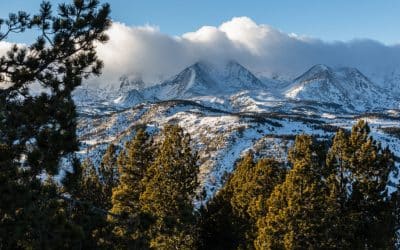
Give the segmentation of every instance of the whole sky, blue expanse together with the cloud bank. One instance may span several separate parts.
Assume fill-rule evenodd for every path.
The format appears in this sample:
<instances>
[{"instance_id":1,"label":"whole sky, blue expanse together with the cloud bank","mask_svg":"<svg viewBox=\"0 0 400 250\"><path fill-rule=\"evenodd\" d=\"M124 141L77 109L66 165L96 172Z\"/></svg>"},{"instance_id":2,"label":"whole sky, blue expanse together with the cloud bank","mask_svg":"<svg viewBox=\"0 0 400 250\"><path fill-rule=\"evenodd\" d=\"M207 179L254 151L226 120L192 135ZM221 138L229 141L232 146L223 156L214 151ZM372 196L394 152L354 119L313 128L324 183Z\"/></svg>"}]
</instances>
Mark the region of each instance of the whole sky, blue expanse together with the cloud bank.
<instances>
[{"instance_id":1,"label":"whole sky, blue expanse together with the cloud bank","mask_svg":"<svg viewBox=\"0 0 400 250\"><path fill-rule=\"evenodd\" d=\"M325 64L379 80L400 65L400 0L108 2L117 22L107 31L110 40L96 48L105 65L96 84L119 84L122 75L151 84L204 60L236 60L258 75L288 79ZM35 13L40 3L0 0L0 16ZM7 41L32 39L27 32ZM0 54L8 46L0 42Z\"/></svg>"}]
</instances>

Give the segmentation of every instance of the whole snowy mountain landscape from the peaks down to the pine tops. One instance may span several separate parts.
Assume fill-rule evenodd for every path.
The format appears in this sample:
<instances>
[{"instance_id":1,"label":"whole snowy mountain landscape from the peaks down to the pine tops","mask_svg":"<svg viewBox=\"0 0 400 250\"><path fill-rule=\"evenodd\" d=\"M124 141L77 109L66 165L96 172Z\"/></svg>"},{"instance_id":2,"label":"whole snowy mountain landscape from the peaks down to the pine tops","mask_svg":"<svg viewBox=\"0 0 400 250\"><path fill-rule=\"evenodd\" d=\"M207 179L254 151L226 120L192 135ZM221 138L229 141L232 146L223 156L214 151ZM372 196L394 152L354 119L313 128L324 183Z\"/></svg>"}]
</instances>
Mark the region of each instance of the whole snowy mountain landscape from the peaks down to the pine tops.
<instances>
[{"instance_id":1,"label":"whole snowy mountain landscape from the peaks down to the pine tops","mask_svg":"<svg viewBox=\"0 0 400 250\"><path fill-rule=\"evenodd\" d=\"M80 87L80 157L98 163L109 143L120 148L147 124L177 123L199 151L200 181L210 197L247 150L284 160L296 134L323 140L366 119L400 164L399 101L354 68L316 65L292 81L256 77L237 62L198 62L151 87L123 77L115 87ZM396 176L392 176L395 181Z\"/></svg>"}]
</instances>

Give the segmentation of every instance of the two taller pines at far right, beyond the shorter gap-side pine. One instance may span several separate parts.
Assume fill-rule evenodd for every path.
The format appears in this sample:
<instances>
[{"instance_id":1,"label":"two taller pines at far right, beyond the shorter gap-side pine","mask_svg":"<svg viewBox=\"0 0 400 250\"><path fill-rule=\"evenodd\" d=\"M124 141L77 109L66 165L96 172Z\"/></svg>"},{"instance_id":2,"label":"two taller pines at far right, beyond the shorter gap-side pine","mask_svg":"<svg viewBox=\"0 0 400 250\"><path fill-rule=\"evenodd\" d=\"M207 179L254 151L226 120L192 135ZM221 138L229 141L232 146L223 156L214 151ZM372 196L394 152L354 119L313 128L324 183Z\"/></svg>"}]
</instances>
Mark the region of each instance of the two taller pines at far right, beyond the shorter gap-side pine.
<instances>
[{"instance_id":1,"label":"two taller pines at far right, beyond the shorter gap-side pine","mask_svg":"<svg viewBox=\"0 0 400 250\"><path fill-rule=\"evenodd\" d=\"M387 193L393 155L369 131L363 121L351 133L339 130L326 165L323 147L296 139L293 168L258 222L258 249L394 249L398 196Z\"/></svg>"}]
</instances>

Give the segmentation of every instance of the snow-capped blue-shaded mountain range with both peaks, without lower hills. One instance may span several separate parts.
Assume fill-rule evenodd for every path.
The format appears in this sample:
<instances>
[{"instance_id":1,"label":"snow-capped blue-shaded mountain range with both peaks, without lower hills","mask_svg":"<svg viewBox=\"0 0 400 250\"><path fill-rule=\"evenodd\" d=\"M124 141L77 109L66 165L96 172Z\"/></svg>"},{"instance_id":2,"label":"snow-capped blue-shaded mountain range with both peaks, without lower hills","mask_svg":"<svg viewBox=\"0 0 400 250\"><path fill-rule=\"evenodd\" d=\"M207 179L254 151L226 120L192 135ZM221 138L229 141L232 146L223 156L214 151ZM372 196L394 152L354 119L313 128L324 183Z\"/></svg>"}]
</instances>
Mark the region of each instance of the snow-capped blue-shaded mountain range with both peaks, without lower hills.
<instances>
[{"instance_id":1,"label":"snow-capped blue-shaded mountain range with both peaks, without lower hills","mask_svg":"<svg viewBox=\"0 0 400 250\"><path fill-rule=\"evenodd\" d=\"M333 69L315 65L293 81L260 80L235 61L223 65L197 62L158 85L121 91L115 103L124 107L144 101L191 99L227 110L247 111L296 103L339 105L347 112L398 108L399 99L355 68ZM218 99L217 102L212 100ZM221 106L222 105L222 106ZM283 109L288 108L284 105Z\"/></svg>"}]
</instances>

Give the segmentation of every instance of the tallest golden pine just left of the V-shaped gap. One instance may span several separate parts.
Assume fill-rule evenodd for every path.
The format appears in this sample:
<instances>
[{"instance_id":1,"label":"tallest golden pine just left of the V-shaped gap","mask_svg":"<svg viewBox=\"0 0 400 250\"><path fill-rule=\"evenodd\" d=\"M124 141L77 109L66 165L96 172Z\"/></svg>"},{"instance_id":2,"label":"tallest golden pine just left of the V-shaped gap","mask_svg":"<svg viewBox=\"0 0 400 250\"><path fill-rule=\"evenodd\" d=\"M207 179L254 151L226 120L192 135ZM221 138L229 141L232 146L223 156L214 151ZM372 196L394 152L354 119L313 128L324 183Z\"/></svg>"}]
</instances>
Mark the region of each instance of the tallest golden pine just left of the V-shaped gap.
<instances>
[{"instance_id":1,"label":"tallest golden pine just left of the V-shaped gap","mask_svg":"<svg viewBox=\"0 0 400 250\"><path fill-rule=\"evenodd\" d=\"M149 231L152 248L193 248L198 171L189 135L177 125L165 126L163 141L142 180L144 192L140 195L143 211L156 218Z\"/></svg>"}]
</instances>

